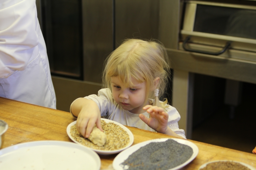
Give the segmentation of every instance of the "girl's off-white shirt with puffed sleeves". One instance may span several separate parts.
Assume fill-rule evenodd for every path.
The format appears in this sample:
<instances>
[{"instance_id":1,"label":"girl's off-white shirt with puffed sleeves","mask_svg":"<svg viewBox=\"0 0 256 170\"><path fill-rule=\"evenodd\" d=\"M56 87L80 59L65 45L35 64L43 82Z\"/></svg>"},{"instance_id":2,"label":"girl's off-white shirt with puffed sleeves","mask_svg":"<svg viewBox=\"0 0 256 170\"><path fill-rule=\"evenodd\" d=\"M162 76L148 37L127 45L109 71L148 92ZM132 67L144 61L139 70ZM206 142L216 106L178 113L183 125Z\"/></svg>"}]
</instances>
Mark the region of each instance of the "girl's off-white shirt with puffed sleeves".
<instances>
[{"instance_id":1,"label":"girl's off-white shirt with puffed sleeves","mask_svg":"<svg viewBox=\"0 0 256 170\"><path fill-rule=\"evenodd\" d=\"M140 129L155 132L155 130L151 129L145 122L143 122L139 118L139 114L131 113L119 106L119 104L117 104L111 96L110 89L101 89L98 91L98 95L90 95L84 98L93 100L97 103L102 117L119 122L122 125L137 127ZM169 115L168 127L176 134L182 136L183 138L186 138L185 131L179 129L178 121L180 120L180 114L178 113L176 108L168 105L168 108L166 108L166 113L168 113ZM142 114L148 118L150 117L150 114L147 112Z\"/></svg>"}]
</instances>

